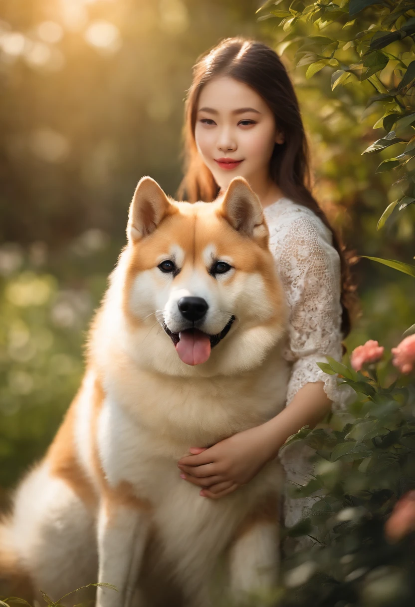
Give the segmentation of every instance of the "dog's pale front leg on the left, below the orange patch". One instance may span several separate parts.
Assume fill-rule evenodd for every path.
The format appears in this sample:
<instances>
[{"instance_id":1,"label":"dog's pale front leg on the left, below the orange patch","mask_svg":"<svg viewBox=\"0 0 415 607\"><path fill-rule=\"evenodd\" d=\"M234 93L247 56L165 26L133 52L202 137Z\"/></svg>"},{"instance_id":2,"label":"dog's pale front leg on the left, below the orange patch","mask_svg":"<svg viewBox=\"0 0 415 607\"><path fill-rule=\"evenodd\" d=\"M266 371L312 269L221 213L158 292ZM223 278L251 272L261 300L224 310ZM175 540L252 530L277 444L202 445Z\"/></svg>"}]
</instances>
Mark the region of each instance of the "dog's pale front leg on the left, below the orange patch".
<instances>
[{"instance_id":1,"label":"dog's pale front leg on the left, below the orange patch","mask_svg":"<svg viewBox=\"0 0 415 607\"><path fill-rule=\"evenodd\" d=\"M149 531L149 517L135 507L103 503L98 517L98 588L96 607L129 607L135 592Z\"/></svg>"}]
</instances>

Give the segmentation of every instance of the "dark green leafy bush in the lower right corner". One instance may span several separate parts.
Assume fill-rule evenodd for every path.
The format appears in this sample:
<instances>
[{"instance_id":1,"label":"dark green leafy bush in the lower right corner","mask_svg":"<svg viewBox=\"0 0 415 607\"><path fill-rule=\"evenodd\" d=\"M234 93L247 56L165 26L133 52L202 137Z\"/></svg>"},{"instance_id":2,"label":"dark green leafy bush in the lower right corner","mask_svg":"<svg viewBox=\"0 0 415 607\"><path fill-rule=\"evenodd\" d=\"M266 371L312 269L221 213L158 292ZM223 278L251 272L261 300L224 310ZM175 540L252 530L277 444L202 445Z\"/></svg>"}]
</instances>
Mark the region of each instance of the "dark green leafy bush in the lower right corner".
<instances>
[{"instance_id":1,"label":"dark green leafy bush in the lower right corner","mask_svg":"<svg viewBox=\"0 0 415 607\"><path fill-rule=\"evenodd\" d=\"M282 604L409 607L414 537L390 544L383 524L399 497L415 488L415 385L397 377L385 387L373 364L363 372L333 359L319 366L340 373L340 385L353 387L357 400L343 421L304 428L286 443L316 450L314 476L292 489L294 497L314 497L314 504L287 531L314 545L286 561Z\"/></svg>"}]
</instances>

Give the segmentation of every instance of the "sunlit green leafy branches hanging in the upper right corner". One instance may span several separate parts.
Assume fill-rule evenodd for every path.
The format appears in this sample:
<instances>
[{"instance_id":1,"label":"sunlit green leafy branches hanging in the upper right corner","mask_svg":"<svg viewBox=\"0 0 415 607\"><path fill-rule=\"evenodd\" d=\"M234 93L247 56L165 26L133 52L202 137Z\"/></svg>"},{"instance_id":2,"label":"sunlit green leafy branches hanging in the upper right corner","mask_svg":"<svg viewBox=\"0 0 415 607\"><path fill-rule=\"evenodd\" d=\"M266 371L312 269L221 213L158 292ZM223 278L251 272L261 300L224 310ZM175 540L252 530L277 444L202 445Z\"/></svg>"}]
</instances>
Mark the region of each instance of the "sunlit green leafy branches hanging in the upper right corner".
<instances>
[{"instance_id":1,"label":"sunlit green leafy branches hanging in the upper right corner","mask_svg":"<svg viewBox=\"0 0 415 607\"><path fill-rule=\"evenodd\" d=\"M369 0L339 0L309 2L285 0L266 3L278 5L269 16L280 20L288 32L280 42L283 51L295 49L297 67L308 66L306 78L325 67L331 70L331 90L346 84L358 86L369 83L374 94L366 109L376 104L382 116L374 128L385 134L374 141L362 154L376 154L397 149L391 157L377 166L376 172L399 169L402 194L380 217L380 229L397 207L399 211L415 203L415 2L376 2ZM373 5L376 5L374 7ZM313 32L305 34L303 24L312 24Z\"/></svg>"}]
</instances>

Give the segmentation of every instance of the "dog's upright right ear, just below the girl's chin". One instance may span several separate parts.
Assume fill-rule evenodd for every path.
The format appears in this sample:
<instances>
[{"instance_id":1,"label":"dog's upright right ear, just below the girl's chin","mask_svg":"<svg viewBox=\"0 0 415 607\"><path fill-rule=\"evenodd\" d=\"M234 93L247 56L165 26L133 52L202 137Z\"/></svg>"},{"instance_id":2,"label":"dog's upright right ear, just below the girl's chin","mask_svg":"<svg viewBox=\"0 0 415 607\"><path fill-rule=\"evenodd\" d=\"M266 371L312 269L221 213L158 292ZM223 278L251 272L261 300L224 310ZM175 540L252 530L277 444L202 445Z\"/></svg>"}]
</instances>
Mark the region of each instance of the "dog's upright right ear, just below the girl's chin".
<instances>
[{"instance_id":1,"label":"dog's upright right ear, just below the girl's chin","mask_svg":"<svg viewBox=\"0 0 415 607\"><path fill-rule=\"evenodd\" d=\"M265 227L263 209L259 198L243 177L235 177L229 183L220 212L232 228L248 236L260 236L257 233L257 228ZM261 229L260 232L262 231Z\"/></svg>"}]
</instances>

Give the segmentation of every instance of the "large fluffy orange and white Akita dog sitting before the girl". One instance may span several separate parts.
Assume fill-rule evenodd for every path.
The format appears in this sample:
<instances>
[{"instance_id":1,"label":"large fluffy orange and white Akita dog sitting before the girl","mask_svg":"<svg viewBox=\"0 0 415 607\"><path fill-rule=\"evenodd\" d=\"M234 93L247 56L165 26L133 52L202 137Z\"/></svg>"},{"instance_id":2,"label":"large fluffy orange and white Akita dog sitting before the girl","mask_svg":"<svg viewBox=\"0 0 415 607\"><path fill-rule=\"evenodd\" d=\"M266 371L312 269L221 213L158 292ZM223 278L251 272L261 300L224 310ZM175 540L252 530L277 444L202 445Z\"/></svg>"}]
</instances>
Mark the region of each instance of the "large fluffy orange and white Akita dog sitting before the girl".
<instances>
[{"instance_id":1,"label":"large fluffy orange and white Akita dog sitting before the girl","mask_svg":"<svg viewBox=\"0 0 415 607\"><path fill-rule=\"evenodd\" d=\"M280 466L210 500L177 461L283 408L285 296L243 178L190 204L143 177L127 236L81 388L0 529L1 572L55 600L115 585L99 607L210 605L217 577L234 596L276 581Z\"/></svg>"}]
</instances>

